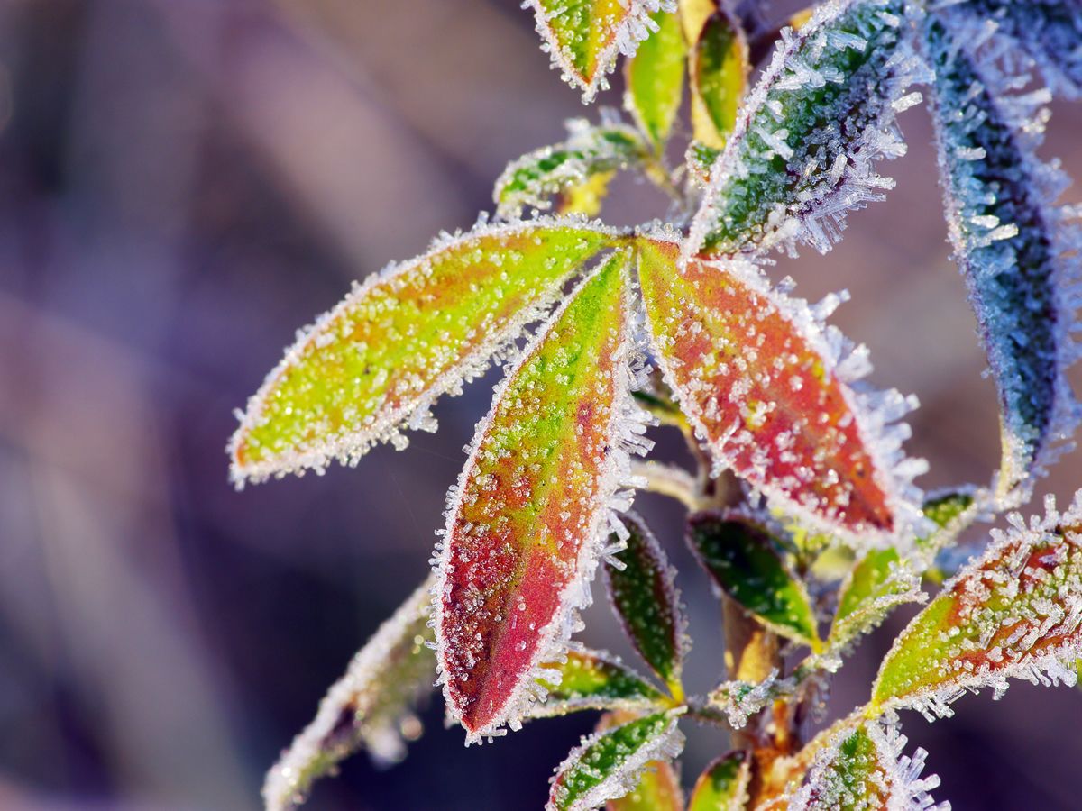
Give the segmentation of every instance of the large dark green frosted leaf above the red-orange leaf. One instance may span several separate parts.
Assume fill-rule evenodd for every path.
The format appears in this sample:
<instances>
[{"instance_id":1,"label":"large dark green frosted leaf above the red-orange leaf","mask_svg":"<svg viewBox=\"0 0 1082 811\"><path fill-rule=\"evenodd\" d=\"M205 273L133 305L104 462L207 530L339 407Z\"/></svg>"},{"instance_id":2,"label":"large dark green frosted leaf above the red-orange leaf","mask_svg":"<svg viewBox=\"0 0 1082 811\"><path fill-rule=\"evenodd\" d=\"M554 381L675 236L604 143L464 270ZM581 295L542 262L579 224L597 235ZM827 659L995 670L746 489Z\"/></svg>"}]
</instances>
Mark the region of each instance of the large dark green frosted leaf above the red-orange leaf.
<instances>
[{"instance_id":1,"label":"large dark green frosted leaf above the red-orange leaf","mask_svg":"<svg viewBox=\"0 0 1082 811\"><path fill-rule=\"evenodd\" d=\"M881 200L880 158L905 154L896 103L926 69L906 0L830 0L783 31L717 158L685 255L828 251L846 212Z\"/></svg>"}]
</instances>

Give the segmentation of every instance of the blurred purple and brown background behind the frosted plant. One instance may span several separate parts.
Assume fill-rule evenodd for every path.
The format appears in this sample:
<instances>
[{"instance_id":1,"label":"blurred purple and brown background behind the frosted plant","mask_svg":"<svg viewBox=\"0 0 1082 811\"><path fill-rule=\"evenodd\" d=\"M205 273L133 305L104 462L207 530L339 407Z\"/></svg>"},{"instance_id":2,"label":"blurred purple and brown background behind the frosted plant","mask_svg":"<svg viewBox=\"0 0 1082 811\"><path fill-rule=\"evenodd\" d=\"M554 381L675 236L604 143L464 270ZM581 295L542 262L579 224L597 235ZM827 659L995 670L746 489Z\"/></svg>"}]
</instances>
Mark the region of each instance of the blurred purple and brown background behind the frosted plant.
<instances>
[{"instance_id":1,"label":"blurred purple and brown background behind the frosted plant","mask_svg":"<svg viewBox=\"0 0 1082 811\"><path fill-rule=\"evenodd\" d=\"M405 453L241 493L232 412L352 279L471 225L509 160L595 115L547 63L512 0L0 0L0 809L258 807L279 749L423 579L497 378L444 401L440 433ZM828 256L771 274L810 300L853 293L833 320L871 347L873 382L919 395L908 447L932 462L925 488L985 481L993 389L929 127L920 109L902 127L888 201L852 215ZM1080 130L1082 106L1056 106L1044 149L1076 176ZM628 180L606 217L663 211ZM678 437L657 438L682 458ZM1041 490L1066 503L1079 486L1076 453ZM639 506L681 568L704 690L717 607L678 510ZM626 652L599 603L585 640ZM858 650L836 710L865 700L911 614ZM905 718L937 799L1080 806L1082 694L1018 684L955 706ZM440 720L434 702L405 763L355 758L311 807L540 808L594 721L465 749ZM692 731L685 782L724 746Z\"/></svg>"}]
</instances>

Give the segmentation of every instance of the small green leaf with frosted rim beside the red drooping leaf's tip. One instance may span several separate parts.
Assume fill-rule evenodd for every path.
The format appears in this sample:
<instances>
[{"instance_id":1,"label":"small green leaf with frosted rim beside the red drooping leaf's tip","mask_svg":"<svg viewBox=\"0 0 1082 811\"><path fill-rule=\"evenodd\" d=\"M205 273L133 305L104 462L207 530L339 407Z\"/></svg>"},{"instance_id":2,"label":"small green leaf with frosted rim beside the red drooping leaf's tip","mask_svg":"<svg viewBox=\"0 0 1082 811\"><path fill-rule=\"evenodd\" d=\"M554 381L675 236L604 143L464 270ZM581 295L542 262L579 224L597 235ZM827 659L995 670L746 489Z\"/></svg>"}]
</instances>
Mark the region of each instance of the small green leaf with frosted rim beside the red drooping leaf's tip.
<instances>
[{"instance_id":1,"label":"small green leaf with frosted rim beside the red drooping leaf's tip","mask_svg":"<svg viewBox=\"0 0 1082 811\"><path fill-rule=\"evenodd\" d=\"M580 709L648 709L664 701L661 691L601 651L570 650L565 662L543 664L544 701L530 707L531 718L566 715Z\"/></svg>"}]
</instances>

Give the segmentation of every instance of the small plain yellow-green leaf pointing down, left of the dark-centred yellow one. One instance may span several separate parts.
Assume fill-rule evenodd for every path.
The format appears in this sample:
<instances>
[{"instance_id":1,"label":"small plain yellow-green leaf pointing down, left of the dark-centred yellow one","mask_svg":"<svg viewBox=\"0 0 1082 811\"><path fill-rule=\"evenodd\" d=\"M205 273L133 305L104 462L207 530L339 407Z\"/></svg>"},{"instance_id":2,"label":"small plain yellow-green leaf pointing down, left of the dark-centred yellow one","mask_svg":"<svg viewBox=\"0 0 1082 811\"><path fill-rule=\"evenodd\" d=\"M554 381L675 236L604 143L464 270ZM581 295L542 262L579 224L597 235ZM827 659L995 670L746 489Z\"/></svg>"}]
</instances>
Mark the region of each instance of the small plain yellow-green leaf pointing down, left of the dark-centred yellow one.
<instances>
[{"instance_id":1,"label":"small plain yellow-green leaf pointing down, left of the dark-centred yellow one","mask_svg":"<svg viewBox=\"0 0 1082 811\"><path fill-rule=\"evenodd\" d=\"M659 11L650 19L658 29L628 59L623 103L660 155L679 111L687 44L678 15Z\"/></svg>"}]
</instances>

